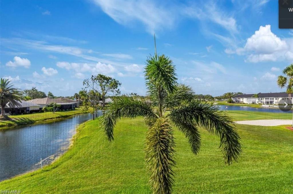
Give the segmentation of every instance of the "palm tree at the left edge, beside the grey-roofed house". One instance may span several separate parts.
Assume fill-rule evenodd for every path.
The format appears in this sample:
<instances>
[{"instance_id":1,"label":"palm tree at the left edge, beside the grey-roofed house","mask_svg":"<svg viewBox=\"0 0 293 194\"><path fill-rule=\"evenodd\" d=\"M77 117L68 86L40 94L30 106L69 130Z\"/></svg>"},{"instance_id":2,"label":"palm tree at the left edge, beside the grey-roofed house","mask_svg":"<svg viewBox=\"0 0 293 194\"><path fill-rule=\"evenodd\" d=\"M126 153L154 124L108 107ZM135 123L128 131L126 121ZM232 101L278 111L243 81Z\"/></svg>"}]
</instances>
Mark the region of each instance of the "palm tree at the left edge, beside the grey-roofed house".
<instances>
[{"instance_id":1,"label":"palm tree at the left edge, beside the grey-roofed house","mask_svg":"<svg viewBox=\"0 0 293 194\"><path fill-rule=\"evenodd\" d=\"M13 84L8 79L0 80L0 106L1 106L1 119L9 119L8 116L5 116L5 106L12 107L21 107L19 101L21 100L21 92L13 88Z\"/></svg>"}]
</instances>

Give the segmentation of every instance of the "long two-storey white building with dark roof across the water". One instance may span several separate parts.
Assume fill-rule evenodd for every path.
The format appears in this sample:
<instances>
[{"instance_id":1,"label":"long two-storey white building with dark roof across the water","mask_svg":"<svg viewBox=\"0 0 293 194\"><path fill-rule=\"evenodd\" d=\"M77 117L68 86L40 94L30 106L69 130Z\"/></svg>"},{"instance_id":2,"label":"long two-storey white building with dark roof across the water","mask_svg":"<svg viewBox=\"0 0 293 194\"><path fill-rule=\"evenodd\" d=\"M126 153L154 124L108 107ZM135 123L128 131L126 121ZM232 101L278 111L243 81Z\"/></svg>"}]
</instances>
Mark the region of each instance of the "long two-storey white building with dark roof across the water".
<instances>
[{"instance_id":1,"label":"long two-storey white building with dark roof across the water","mask_svg":"<svg viewBox=\"0 0 293 194\"><path fill-rule=\"evenodd\" d=\"M293 102L293 98L289 98L286 92L258 93L257 97L255 97L255 94L239 94L232 97L232 102L244 104L279 104L281 99L290 99Z\"/></svg>"}]
</instances>

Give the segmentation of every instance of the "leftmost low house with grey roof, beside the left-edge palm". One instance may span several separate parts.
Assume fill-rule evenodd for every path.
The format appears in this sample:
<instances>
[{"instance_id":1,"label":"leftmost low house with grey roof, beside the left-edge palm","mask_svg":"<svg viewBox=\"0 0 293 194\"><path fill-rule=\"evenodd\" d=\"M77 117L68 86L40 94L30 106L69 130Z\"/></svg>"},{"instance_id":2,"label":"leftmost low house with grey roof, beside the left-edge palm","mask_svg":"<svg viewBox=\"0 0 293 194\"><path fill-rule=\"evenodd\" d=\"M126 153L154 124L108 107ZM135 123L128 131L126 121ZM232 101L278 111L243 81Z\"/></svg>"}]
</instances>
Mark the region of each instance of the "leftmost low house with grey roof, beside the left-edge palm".
<instances>
[{"instance_id":1,"label":"leftmost low house with grey roof, beside the left-edge palm","mask_svg":"<svg viewBox=\"0 0 293 194\"><path fill-rule=\"evenodd\" d=\"M39 112L40 111L40 105L27 102L27 101L19 101L20 107L18 106L12 106L11 104L8 104L5 106L5 113L6 114L23 114L23 113L32 113L32 112ZM1 113L1 110L0 110Z\"/></svg>"}]
</instances>

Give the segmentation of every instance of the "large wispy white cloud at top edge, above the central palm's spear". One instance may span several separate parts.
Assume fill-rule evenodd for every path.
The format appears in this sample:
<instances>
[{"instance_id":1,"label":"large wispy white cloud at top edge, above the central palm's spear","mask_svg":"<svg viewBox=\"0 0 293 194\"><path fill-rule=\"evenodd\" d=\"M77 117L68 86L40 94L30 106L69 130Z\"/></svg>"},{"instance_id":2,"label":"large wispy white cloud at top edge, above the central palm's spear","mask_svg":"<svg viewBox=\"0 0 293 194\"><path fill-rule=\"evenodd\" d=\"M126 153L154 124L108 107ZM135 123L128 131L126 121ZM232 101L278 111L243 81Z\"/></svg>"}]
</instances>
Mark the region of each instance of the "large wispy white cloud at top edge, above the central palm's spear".
<instances>
[{"instance_id":1,"label":"large wispy white cloud at top edge, above the central palm's spear","mask_svg":"<svg viewBox=\"0 0 293 194\"><path fill-rule=\"evenodd\" d=\"M103 1L93 0L108 16L122 25L141 22L151 34L172 28L175 16L171 8L159 6L154 1Z\"/></svg>"}]
</instances>

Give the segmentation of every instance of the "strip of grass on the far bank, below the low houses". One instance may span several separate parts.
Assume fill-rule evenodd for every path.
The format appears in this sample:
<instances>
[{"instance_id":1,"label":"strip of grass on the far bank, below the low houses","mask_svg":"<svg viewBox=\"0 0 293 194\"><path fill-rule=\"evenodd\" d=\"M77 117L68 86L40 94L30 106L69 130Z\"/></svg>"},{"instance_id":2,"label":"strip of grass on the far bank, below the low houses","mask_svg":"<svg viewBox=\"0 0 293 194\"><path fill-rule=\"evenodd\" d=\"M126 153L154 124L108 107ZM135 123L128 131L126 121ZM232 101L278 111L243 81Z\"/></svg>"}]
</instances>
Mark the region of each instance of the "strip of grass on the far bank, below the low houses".
<instances>
[{"instance_id":1,"label":"strip of grass on the far bank, below the low houses","mask_svg":"<svg viewBox=\"0 0 293 194\"><path fill-rule=\"evenodd\" d=\"M76 108L71 111L57 111L53 112L43 112L43 113L32 113L32 114L23 114L23 115L14 115L9 116L13 120L10 121L0 121L0 130L1 127L9 127L9 126L18 126L18 125L26 125L33 123L40 123L42 121L50 120L50 119L59 119L65 118L76 114L84 113L84 110L81 108Z\"/></svg>"}]
</instances>

